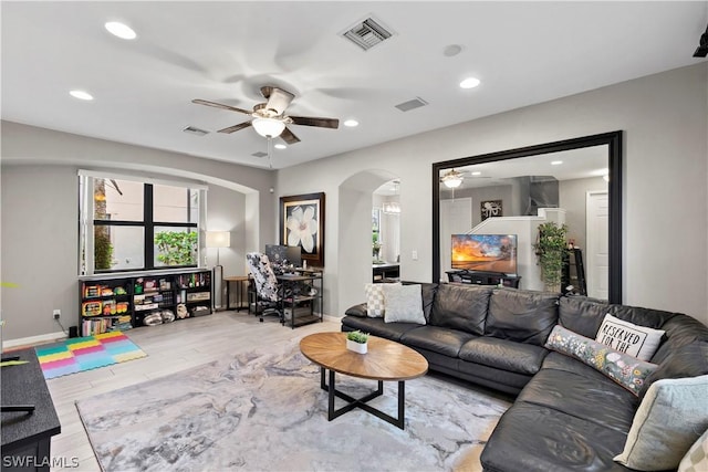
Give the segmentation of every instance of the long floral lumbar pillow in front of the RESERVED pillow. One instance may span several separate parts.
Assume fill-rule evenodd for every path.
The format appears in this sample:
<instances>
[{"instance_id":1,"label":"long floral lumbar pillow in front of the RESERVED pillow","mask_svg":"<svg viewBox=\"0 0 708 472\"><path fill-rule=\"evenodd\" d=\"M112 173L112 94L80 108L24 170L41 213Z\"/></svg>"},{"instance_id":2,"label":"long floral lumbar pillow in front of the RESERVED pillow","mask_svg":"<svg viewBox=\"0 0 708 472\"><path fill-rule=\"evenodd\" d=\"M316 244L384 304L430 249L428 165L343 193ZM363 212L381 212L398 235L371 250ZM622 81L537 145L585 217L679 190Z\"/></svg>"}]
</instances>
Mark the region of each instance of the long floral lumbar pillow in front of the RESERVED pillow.
<instances>
[{"instance_id":1,"label":"long floral lumbar pillow in front of the RESERVED pillow","mask_svg":"<svg viewBox=\"0 0 708 472\"><path fill-rule=\"evenodd\" d=\"M614 350L561 325L555 325L545 347L597 369L636 396L639 395L646 377L657 368L656 364Z\"/></svg>"}]
</instances>

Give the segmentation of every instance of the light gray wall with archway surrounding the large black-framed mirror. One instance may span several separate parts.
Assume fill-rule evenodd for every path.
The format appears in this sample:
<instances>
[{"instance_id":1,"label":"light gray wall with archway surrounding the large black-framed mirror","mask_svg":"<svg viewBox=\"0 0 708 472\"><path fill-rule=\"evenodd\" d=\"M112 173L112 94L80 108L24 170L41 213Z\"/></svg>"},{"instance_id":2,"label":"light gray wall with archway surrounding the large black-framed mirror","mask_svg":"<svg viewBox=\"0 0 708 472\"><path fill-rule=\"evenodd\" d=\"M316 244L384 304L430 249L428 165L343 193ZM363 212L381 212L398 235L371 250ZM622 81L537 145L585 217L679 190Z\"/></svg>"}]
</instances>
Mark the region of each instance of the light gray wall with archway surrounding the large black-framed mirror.
<instances>
[{"instance_id":1,"label":"light gray wall with archway surrounding the large black-framed mirror","mask_svg":"<svg viewBox=\"0 0 708 472\"><path fill-rule=\"evenodd\" d=\"M402 277L430 281L433 162L622 129L623 301L708 324L707 72L704 62L279 170L281 195L327 195L325 285L339 301L330 314L363 300L367 271L357 265L369 262L363 250L346 270L335 261L340 245L356 248L351 232L369 231L339 231L339 214L355 208L339 195L351 176L400 178ZM680 244L666 251L677 234Z\"/></svg>"}]
</instances>

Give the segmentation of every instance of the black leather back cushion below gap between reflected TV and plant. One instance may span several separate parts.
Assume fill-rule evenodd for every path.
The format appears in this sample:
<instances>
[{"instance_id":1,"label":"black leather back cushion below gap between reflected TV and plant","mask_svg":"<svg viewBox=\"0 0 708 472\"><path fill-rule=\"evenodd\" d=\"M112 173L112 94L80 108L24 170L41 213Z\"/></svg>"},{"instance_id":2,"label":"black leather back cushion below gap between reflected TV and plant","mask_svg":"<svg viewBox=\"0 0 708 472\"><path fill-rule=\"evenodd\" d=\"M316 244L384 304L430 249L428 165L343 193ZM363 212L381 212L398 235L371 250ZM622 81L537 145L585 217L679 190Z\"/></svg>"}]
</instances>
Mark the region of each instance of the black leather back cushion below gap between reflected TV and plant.
<instances>
[{"instance_id":1,"label":"black leather back cushion below gap between reflected TV and plant","mask_svg":"<svg viewBox=\"0 0 708 472\"><path fill-rule=\"evenodd\" d=\"M485 335L543 346L558 324L558 297L543 292L494 290Z\"/></svg>"}]
</instances>

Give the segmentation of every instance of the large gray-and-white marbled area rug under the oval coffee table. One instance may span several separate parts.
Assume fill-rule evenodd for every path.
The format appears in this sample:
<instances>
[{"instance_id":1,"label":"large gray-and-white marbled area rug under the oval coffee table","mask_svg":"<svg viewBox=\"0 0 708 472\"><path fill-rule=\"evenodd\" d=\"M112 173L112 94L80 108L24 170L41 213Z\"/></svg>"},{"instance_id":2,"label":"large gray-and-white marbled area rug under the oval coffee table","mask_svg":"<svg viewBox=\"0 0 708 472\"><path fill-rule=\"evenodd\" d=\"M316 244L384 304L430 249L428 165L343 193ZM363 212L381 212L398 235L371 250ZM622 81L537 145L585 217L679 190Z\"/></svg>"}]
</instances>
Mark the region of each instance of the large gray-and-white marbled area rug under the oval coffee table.
<instances>
[{"instance_id":1,"label":"large gray-and-white marbled area rug under the oval coffee table","mask_svg":"<svg viewBox=\"0 0 708 472\"><path fill-rule=\"evenodd\" d=\"M354 396L375 386L337 376ZM371 405L396 416L396 389ZM509 406L428 375L406 382L405 430L360 409L327 421L319 367L293 342L76 402L105 471L473 471Z\"/></svg>"}]
</instances>

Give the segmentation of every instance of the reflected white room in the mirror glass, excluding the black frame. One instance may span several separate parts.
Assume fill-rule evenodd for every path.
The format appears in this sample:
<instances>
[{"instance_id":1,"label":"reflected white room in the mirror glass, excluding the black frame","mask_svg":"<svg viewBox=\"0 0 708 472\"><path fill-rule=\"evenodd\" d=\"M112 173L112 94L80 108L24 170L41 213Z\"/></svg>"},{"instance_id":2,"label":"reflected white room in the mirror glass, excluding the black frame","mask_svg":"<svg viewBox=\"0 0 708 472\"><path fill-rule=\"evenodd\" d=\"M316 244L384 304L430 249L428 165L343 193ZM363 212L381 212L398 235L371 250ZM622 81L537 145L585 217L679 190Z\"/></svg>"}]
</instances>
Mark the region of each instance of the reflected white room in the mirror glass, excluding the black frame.
<instances>
[{"instance_id":1,"label":"reflected white room in the mirror glass, excluding the black frame","mask_svg":"<svg viewBox=\"0 0 708 472\"><path fill-rule=\"evenodd\" d=\"M608 172L606 146L440 170L442 273L451 270L452 234L516 234L516 275L522 287L543 290L531 244L538 224L553 216L584 256L584 264L571 261L573 291L607 298L607 213L598 209L607 208Z\"/></svg>"}]
</instances>

